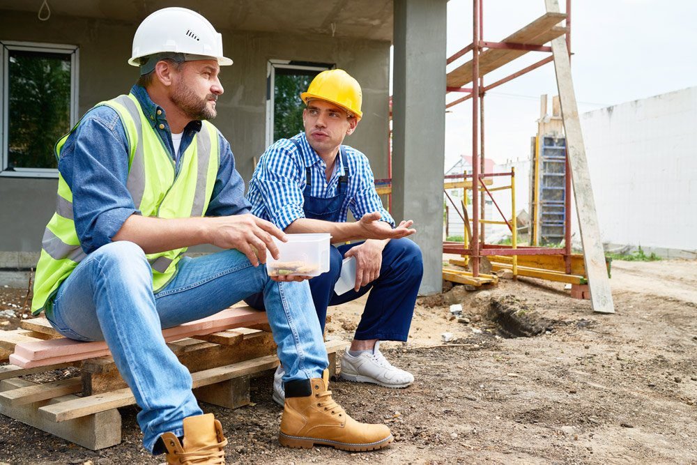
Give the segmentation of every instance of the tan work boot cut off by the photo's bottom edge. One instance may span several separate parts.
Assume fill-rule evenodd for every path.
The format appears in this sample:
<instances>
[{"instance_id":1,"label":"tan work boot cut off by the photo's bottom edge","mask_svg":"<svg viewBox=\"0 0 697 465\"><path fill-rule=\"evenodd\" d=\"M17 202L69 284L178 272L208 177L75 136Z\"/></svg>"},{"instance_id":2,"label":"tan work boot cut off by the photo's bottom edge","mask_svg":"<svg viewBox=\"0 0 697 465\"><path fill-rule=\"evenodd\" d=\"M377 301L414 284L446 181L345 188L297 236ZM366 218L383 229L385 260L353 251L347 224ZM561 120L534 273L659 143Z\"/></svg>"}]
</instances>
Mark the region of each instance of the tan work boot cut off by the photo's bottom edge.
<instances>
[{"instance_id":1,"label":"tan work boot cut off by the photo's bottom edge","mask_svg":"<svg viewBox=\"0 0 697 465\"><path fill-rule=\"evenodd\" d=\"M227 439L213 413L184 418L184 445L172 433L160 436L169 465L223 465Z\"/></svg>"}]
</instances>

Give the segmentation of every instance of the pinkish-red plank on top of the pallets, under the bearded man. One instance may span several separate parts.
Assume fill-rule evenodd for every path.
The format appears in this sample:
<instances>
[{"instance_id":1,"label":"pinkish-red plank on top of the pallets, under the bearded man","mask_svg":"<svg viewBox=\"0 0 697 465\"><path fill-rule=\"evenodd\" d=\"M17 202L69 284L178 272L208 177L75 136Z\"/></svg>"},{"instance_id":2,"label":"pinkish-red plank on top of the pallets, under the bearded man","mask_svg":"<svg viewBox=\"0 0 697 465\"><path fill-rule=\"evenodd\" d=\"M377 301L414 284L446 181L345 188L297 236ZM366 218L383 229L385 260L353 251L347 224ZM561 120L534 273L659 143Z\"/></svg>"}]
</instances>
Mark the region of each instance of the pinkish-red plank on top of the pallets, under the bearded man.
<instances>
[{"instance_id":1,"label":"pinkish-red plank on top of the pallets, under the bearded man","mask_svg":"<svg viewBox=\"0 0 697 465\"><path fill-rule=\"evenodd\" d=\"M252 310L251 307L237 307L223 310L208 318L184 323L162 331L166 341L174 341L192 335L217 333L228 328L265 323L266 312ZM66 338L27 342L17 344L10 362L20 367L36 367L60 362L101 357L109 354L105 342L77 342Z\"/></svg>"}]
</instances>

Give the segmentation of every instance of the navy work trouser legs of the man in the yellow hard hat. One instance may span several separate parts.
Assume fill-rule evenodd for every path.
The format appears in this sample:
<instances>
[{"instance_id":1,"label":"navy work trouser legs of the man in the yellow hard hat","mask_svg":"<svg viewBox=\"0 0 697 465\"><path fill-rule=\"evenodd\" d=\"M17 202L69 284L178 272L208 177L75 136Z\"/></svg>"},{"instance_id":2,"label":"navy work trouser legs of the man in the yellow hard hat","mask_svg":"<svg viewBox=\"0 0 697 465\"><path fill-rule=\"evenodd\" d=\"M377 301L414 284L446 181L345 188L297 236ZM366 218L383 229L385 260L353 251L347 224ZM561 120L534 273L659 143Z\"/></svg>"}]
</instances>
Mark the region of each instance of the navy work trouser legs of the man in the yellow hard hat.
<instances>
[{"instance_id":1,"label":"navy work trouser legs of the man in the yellow hard hat","mask_svg":"<svg viewBox=\"0 0 697 465\"><path fill-rule=\"evenodd\" d=\"M328 305L351 302L370 291L365 310L355 331L355 339L406 341L414 316L414 305L424 274L421 249L407 238L392 239L383 250L380 276L358 289L337 296L334 286L342 273L344 254L360 243L331 247L330 270L309 282L317 318L324 331ZM263 309L262 294L245 299L254 308Z\"/></svg>"}]
</instances>

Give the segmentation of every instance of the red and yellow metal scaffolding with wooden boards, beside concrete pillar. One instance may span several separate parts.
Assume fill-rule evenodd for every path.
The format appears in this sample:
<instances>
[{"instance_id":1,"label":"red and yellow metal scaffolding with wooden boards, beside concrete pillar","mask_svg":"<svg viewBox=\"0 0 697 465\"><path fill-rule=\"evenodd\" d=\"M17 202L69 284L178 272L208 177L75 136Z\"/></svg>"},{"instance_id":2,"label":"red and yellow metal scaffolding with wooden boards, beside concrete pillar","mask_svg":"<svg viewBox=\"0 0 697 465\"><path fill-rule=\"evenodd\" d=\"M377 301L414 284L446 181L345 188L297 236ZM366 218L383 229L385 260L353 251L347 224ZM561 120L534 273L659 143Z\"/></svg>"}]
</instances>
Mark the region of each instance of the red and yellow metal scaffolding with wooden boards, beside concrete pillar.
<instances>
[{"instance_id":1,"label":"red and yellow metal scaffolding with wooden boards, beside concrete pillar","mask_svg":"<svg viewBox=\"0 0 697 465\"><path fill-rule=\"evenodd\" d=\"M565 225L565 244L564 247L537 247L537 246L520 246L516 241L516 222L515 222L515 203L513 203L513 221L512 224L507 221L503 212L500 211L496 200L493 199L490 190L487 188L484 182L487 178L492 176L510 176L511 185L514 185L515 172L509 171L504 173L485 173L484 172L484 96L487 91L510 82L512 79L529 73L532 70L544 66L546 63L555 63L556 73L557 73L557 84L560 89L560 93L564 91L566 96L566 105L572 111L567 112L572 114L570 117L571 123L574 125L574 139L576 139L576 148L574 156L576 157L575 169L578 172L576 176L579 177L579 185L576 186L577 190L583 189L581 193L581 200L577 198L576 204L579 209L579 215L581 215L581 208L583 208L583 214L585 218L590 219L590 227L586 232L586 240L583 236L583 225L581 231L581 238L584 245L584 257L585 257L585 268L589 271L588 278L590 281L591 274L593 274L598 283L595 287L596 298L592 298L592 305L594 310L597 312L613 312L612 298L609 292L609 283L607 282L607 276L603 278L599 273L599 259L598 259L598 247L601 247L600 252L602 253L602 243L599 242L599 229L597 227L597 217L595 215L595 203L592 199L592 191L590 190L590 178L588 177L588 169L585 162L585 149L583 148L583 139L581 138L580 126L578 125L578 112L576 111L576 100L573 95L573 86L571 82L571 75L569 71L569 61L565 63L558 63L560 61L560 56L558 53L555 54L554 43L553 46L546 46L544 44L550 41L560 38L560 36L565 35L565 45L563 47L565 52L568 53L570 57L571 52L571 0L566 0L566 12L559 13L558 4L556 0L546 0L547 13L537 18L537 20L531 22L527 26L524 26L519 31L516 31L511 36L508 36L500 42L491 42L484 40L484 33L482 29L483 21L483 8L482 3L484 0L473 0L473 41L463 49L461 49L456 54L450 56L447 59L447 63L453 63L461 56L472 52L472 59L467 63L458 66L454 70L447 73L447 92L462 92L466 93L465 96L453 100L446 105L446 108L458 105L461 102L472 99L472 173L462 174L459 177L463 180L471 178L472 180L472 231L475 235L472 241L466 240L465 243L443 243L443 252L452 254L461 254L469 257L469 264L471 267L470 278L477 282L477 280L482 279L482 282L490 282L489 278L491 275L482 275L480 273L480 261L482 257L512 257L511 264L514 270L514 275L517 275L519 271L518 259L519 256L560 256L563 257L563 268L565 274L572 274L572 247L571 247L571 183L572 176L567 175L565 179L565 189L567 195L565 196L565 211L567 214L564 218ZM560 27L558 24L565 21L565 26ZM557 42L559 45L559 43ZM560 49L557 45L556 51ZM564 45L564 41L560 45ZM543 52L551 53L551 56L537 61L536 63L523 68L516 73L499 79L492 84L484 85L484 75L496 70L506 63L510 63L514 59L526 54L528 52ZM566 74L564 74L566 73ZM562 77L560 77L562 75ZM470 84L470 87L465 87ZM563 100L563 99L562 99ZM562 113L564 110L564 102L562 101ZM566 113L564 113L566 116ZM565 124L567 123L567 117L565 117ZM569 131L569 128L567 128ZM567 174L572 173L572 169L569 165L569 148L565 151L565 167ZM576 179L574 176L574 181ZM490 245L484 241L484 229L487 222L491 220L484 219L484 194L489 195L493 201L493 205L498 208L499 213L504 217L503 222L507 224L512 232L512 245ZM578 197L579 194L577 193ZM579 205L581 207L579 207ZM457 208L457 207L456 207ZM464 208L464 206L463 206ZM465 212L466 213L466 212ZM466 215L465 215L466 218ZM503 222L496 222L497 224L503 224ZM466 223L466 229L468 224ZM467 236L465 236L467 238ZM588 242L588 244L586 244ZM585 252L588 246L588 253ZM551 259L552 257L550 257ZM505 260L505 259L504 259ZM604 265L604 261L603 264ZM557 266L558 268L558 266ZM592 268L592 270L590 269ZM536 270L530 271L535 277L543 277L544 279L559 280L562 270L553 270L550 273L543 273L539 275ZM534 272L534 273L533 273ZM535 274L537 273L537 275ZM547 277L547 276L550 277ZM480 278L481 277L481 278ZM562 275L563 277L563 275ZM570 277L569 277L570 278ZM574 278L575 279L575 278ZM566 282L573 282L572 280L567 280ZM592 288L592 287L591 287ZM591 289L591 296L593 296L593 291Z\"/></svg>"}]
</instances>

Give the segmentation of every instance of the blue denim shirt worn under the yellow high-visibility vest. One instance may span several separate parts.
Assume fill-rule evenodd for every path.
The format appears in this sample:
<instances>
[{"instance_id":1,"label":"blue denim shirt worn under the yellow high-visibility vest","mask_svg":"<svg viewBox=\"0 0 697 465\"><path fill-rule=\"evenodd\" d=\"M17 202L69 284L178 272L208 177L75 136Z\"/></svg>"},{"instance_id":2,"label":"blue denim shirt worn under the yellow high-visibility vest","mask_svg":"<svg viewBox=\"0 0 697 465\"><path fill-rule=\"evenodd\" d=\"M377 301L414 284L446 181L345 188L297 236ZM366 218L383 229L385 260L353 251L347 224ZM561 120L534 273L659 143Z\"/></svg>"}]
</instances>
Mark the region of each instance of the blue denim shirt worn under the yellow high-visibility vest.
<instances>
[{"instance_id":1,"label":"blue denim shirt worn under the yellow high-visibility vest","mask_svg":"<svg viewBox=\"0 0 697 465\"><path fill-rule=\"evenodd\" d=\"M131 93L140 102L172 160L176 160L178 171L181 163L174 154L164 109L155 105L141 86L133 86ZM162 129L160 125L163 125ZM201 125L201 121L191 121L186 125L179 153L184 153L194 135L201 130ZM245 199L245 182L235 169L230 144L220 132L218 141L220 166L206 216L250 213L250 204ZM63 146L58 169L72 192L75 231L85 253L112 242L130 215L141 214L126 188L128 138L118 113L111 107L93 108L82 117Z\"/></svg>"}]
</instances>

